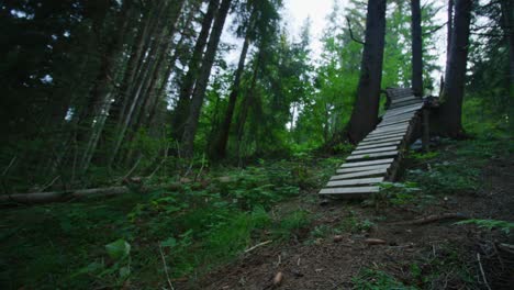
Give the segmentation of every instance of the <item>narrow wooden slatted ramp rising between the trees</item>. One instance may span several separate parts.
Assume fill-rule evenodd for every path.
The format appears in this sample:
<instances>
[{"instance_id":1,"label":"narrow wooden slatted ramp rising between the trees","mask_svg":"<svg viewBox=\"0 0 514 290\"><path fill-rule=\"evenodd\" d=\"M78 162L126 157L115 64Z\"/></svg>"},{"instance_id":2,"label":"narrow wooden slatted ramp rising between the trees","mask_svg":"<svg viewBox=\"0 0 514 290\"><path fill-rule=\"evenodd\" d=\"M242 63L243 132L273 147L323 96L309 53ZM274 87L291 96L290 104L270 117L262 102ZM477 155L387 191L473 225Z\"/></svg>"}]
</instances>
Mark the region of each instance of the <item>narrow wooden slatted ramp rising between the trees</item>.
<instances>
[{"instance_id":1,"label":"narrow wooden slatted ramp rising between the trees","mask_svg":"<svg viewBox=\"0 0 514 290\"><path fill-rule=\"evenodd\" d=\"M411 89L388 89L387 93L390 105L381 122L357 145L320 194L366 197L379 192L380 182L394 180L423 100Z\"/></svg>"}]
</instances>

